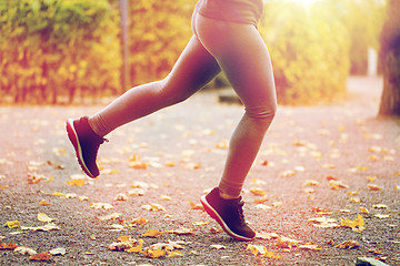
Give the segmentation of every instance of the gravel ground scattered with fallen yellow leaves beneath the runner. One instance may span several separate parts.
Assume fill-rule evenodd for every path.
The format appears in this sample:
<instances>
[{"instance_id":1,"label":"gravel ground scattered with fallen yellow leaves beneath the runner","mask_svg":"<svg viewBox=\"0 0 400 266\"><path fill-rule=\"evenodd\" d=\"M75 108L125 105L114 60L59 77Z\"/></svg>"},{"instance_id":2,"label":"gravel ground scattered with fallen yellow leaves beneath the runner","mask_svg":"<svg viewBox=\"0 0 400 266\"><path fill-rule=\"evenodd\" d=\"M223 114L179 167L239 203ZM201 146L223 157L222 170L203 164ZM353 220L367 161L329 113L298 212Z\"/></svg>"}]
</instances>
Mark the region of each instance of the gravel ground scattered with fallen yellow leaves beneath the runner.
<instances>
[{"instance_id":1,"label":"gravel ground scattered with fallen yellow leaves beneath the runner","mask_svg":"<svg viewBox=\"0 0 400 266\"><path fill-rule=\"evenodd\" d=\"M400 121L376 117L381 84L380 79L351 78L347 101L280 106L243 198L248 222L258 233L269 233L250 244L281 258L251 254L249 243L233 241L190 205L218 184L227 140L242 115L241 106L218 103L217 92L199 93L111 133L99 152L102 173L97 180L82 175L64 121L103 105L0 106L0 243L37 253L66 250L33 262L0 249L0 265L354 265L357 257L400 265ZM330 182L344 187L332 190ZM132 194L134 186L141 186L142 196ZM127 201L116 201L118 194ZM113 208L98 209L94 203ZM142 207L149 204L164 211ZM59 229L27 229L46 225L39 213L54 218ZM119 218L99 219L110 214ZM346 218L356 223L358 215L361 232L340 226ZM133 225L138 217L148 223ZM316 217L332 218L339 227L316 227L309 222ZM20 226L3 226L13 221ZM162 234L142 236L149 229ZM159 258L110 250L119 236L143 239L142 250L169 241L183 249ZM294 241L299 244L288 245ZM360 246L337 247L346 241Z\"/></svg>"}]
</instances>

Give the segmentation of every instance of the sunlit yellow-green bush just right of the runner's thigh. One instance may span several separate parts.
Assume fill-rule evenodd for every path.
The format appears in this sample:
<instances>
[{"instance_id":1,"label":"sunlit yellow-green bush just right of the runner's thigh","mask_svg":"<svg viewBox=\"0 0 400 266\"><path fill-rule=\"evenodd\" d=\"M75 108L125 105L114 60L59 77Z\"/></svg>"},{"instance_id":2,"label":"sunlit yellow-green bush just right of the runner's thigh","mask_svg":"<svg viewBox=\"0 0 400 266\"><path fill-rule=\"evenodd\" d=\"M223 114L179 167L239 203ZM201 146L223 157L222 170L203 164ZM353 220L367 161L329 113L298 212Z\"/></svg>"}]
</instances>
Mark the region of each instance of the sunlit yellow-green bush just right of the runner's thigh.
<instances>
[{"instance_id":1,"label":"sunlit yellow-green bush just right of the runner's thigh","mask_svg":"<svg viewBox=\"0 0 400 266\"><path fill-rule=\"evenodd\" d=\"M349 37L329 7L269 1L260 31L271 53L280 103L316 104L346 92Z\"/></svg>"}]
</instances>

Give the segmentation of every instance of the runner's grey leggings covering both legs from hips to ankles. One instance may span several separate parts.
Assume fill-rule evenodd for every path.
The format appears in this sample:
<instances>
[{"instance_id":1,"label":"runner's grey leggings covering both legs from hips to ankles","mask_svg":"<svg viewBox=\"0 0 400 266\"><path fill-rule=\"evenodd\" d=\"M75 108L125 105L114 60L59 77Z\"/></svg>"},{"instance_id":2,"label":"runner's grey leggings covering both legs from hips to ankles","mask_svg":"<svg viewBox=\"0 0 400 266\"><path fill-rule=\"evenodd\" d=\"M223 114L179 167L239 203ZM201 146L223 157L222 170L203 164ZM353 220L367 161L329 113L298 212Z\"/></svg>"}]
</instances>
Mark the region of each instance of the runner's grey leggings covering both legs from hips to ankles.
<instances>
[{"instance_id":1,"label":"runner's grey leggings covering both legs from hips to ankles","mask_svg":"<svg viewBox=\"0 0 400 266\"><path fill-rule=\"evenodd\" d=\"M120 125L184 101L222 70L246 112L230 140L219 184L226 198L238 197L277 110L268 49L253 24L192 17L193 37L170 74L127 91L89 119L104 136Z\"/></svg>"}]
</instances>

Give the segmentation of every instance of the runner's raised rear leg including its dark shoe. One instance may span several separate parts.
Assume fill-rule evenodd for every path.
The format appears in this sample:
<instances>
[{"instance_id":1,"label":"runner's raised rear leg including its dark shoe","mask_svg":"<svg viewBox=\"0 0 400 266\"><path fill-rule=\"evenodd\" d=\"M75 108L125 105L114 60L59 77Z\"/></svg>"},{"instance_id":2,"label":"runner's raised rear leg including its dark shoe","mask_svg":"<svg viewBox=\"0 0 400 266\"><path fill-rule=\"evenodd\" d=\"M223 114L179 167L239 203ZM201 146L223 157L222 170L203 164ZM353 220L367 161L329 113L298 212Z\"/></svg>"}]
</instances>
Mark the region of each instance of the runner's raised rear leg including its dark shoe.
<instances>
[{"instance_id":1,"label":"runner's raised rear leg including its dark shoe","mask_svg":"<svg viewBox=\"0 0 400 266\"><path fill-rule=\"evenodd\" d=\"M68 120L68 136L84 173L90 177L100 174L96 158L104 135L130 121L186 100L220 71L216 59L194 35L166 79L129 90L90 119Z\"/></svg>"}]
</instances>

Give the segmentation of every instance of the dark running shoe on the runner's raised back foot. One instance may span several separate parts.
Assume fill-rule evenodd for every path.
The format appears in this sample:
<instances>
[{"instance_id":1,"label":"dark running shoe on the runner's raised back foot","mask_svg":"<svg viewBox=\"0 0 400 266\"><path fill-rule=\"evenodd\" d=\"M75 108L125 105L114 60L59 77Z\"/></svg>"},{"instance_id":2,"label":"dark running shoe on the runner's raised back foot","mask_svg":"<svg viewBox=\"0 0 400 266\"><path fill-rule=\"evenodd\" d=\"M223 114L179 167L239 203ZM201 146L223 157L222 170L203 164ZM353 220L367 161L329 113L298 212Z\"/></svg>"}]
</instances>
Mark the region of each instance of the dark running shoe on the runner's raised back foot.
<instances>
[{"instance_id":1,"label":"dark running shoe on the runner's raised back foot","mask_svg":"<svg viewBox=\"0 0 400 266\"><path fill-rule=\"evenodd\" d=\"M99 146L108 140L94 133L89 125L88 116L76 120L69 119L67 132L83 172L96 178L100 174L96 163Z\"/></svg>"}]
</instances>

